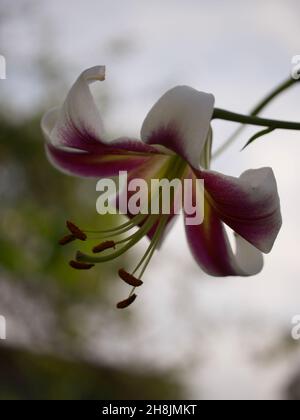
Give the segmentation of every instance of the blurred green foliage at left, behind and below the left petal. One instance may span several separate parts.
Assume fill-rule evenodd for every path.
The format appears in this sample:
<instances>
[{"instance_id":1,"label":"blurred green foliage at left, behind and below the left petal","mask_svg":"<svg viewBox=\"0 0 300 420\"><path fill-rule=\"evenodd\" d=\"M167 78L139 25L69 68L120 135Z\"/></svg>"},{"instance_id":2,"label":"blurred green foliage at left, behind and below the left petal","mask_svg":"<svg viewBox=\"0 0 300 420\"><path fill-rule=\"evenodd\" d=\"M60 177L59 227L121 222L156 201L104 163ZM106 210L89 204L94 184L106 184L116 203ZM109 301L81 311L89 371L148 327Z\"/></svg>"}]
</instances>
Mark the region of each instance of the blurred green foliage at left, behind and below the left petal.
<instances>
[{"instance_id":1,"label":"blurred green foliage at left, behind and below the left petal","mask_svg":"<svg viewBox=\"0 0 300 420\"><path fill-rule=\"evenodd\" d=\"M47 276L70 298L92 297L116 268L76 272L67 262L78 243L61 248L57 242L66 231L66 218L99 229L111 224L110 216L96 214L95 182L64 176L51 167L38 121L20 126L1 122L0 175L2 268L23 283L41 286L41 276Z\"/></svg>"}]
</instances>

